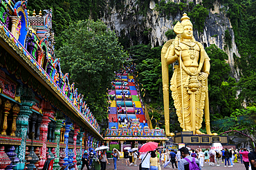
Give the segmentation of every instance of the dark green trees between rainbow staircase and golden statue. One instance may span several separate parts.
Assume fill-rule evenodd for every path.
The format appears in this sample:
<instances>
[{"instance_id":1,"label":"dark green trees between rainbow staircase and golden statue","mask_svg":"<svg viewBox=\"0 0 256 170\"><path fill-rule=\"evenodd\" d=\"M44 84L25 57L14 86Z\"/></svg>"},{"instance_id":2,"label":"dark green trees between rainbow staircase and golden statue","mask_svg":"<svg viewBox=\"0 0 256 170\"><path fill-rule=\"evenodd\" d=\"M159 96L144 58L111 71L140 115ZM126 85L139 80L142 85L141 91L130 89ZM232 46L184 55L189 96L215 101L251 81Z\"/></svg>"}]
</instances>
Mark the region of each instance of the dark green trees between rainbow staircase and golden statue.
<instances>
[{"instance_id":1,"label":"dark green trees between rainbow staircase and golden statue","mask_svg":"<svg viewBox=\"0 0 256 170\"><path fill-rule=\"evenodd\" d=\"M140 89L145 89L145 102L158 109L163 109L161 49L161 46L152 48L151 45L140 44L130 47L128 50L136 63ZM172 69L170 69L171 77ZM170 96L172 96L171 93ZM170 107L174 108L171 98Z\"/></svg>"}]
</instances>

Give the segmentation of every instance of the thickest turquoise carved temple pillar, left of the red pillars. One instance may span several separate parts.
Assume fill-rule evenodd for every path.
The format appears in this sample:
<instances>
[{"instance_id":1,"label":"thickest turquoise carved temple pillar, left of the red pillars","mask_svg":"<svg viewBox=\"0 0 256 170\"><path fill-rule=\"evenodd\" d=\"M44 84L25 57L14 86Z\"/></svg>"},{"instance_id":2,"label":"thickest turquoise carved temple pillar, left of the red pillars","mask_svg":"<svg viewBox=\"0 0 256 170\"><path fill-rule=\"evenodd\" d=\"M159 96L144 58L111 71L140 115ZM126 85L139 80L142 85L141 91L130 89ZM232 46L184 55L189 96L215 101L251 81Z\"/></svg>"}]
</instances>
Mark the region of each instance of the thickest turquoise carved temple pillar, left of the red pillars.
<instances>
[{"instance_id":1,"label":"thickest turquoise carved temple pillar, left of the red pillars","mask_svg":"<svg viewBox=\"0 0 256 170\"><path fill-rule=\"evenodd\" d=\"M15 135L17 137L21 137L21 145L17 147L17 157L19 158L19 162L17 162L17 166L14 167L16 170L23 170L25 168L25 153L26 153L26 136L28 131L28 118L30 114L33 113L32 106L35 105L35 94L31 89L26 87L18 87L16 96L21 98L21 107L19 111L19 115L17 116L17 131L15 131Z\"/></svg>"}]
</instances>

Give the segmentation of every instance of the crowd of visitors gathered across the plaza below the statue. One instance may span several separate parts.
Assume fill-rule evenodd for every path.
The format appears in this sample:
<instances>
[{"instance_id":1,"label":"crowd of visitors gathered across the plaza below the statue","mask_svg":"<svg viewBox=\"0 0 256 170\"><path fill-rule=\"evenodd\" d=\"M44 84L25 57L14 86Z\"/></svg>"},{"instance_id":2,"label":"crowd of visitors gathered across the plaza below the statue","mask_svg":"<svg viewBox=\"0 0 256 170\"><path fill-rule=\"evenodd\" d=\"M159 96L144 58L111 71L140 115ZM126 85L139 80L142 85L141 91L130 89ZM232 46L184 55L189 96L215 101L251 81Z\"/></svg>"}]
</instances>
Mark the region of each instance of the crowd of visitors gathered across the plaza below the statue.
<instances>
[{"instance_id":1,"label":"crowd of visitors gathered across the plaza below the statue","mask_svg":"<svg viewBox=\"0 0 256 170\"><path fill-rule=\"evenodd\" d=\"M119 154L117 149L113 149L111 155L113 157L113 167L117 170L116 161L119 160ZM92 166L93 158L100 161L101 170L106 170L107 160L106 150L95 152L93 149L91 151L84 151L82 156L82 169L86 166L89 169ZM190 170L191 166L196 167L196 169L202 169L203 164L207 163L214 166L215 160L217 166L220 166L220 162L225 162L224 167L233 167L234 163L243 163L246 170L251 167L252 170L256 170L256 147L253 151L248 151L244 149L223 149L213 150L213 149L188 149L187 147L182 147L177 151L176 149L156 149L155 151L140 153L136 151L124 151L124 158L126 166L138 166L137 160L141 160L141 167L143 170L158 170L161 167L165 167L167 164L172 164L172 169L179 170Z\"/></svg>"}]
</instances>

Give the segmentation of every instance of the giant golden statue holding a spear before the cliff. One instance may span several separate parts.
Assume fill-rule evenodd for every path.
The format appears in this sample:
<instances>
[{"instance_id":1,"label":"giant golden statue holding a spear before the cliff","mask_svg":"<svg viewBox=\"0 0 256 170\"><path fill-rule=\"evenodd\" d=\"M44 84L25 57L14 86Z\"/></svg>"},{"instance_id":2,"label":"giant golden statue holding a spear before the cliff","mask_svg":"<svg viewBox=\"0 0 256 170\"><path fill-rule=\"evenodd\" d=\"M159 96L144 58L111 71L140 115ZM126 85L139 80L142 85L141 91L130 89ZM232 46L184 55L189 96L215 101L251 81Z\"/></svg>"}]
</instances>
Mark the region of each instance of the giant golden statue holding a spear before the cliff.
<instances>
[{"instance_id":1,"label":"giant golden statue holding a spear before the cliff","mask_svg":"<svg viewBox=\"0 0 256 170\"><path fill-rule=\"evenodd\" d=\"M176 38L167 41L161 53L166 135L174 135L170 134L169 128L168 65L175 61L178 61L179 65L174 65L170 89L181 128L183 131L193 131L193 134L203 134L199 129L202 126L204 111L207 134L217 135L210 131L207 80L210 74L210 58L203 45L195 41L193 25L187 14L183 14L181 23L176 23L174 32L177 34Z\"/></svg>"}]
</instances>

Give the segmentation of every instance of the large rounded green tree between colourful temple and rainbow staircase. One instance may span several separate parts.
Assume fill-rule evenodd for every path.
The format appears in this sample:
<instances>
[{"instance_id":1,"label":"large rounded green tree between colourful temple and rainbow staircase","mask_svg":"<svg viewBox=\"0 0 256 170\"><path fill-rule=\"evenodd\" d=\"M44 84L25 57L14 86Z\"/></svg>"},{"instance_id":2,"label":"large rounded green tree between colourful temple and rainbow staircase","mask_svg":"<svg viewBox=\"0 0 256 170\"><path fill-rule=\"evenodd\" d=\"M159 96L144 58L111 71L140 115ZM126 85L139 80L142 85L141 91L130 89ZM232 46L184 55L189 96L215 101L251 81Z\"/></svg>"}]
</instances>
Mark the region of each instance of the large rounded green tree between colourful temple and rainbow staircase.
<instances>
[{"instance_id":1,"label":"large rounded green tree between colourful temple and rainbow staircase","mask_svg":"<svg viewBox=\"0 0 256 170\"><path fill-rule=\"evenodd\" d=\"M114 72L122 67L126 52L115 32L102 21L78 21L63 32L63 47L57 50L62 71L68 72L97 120L107 118L107 88Z\"/></svg>"}]
</instances>

